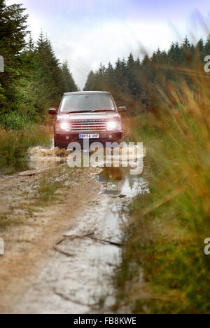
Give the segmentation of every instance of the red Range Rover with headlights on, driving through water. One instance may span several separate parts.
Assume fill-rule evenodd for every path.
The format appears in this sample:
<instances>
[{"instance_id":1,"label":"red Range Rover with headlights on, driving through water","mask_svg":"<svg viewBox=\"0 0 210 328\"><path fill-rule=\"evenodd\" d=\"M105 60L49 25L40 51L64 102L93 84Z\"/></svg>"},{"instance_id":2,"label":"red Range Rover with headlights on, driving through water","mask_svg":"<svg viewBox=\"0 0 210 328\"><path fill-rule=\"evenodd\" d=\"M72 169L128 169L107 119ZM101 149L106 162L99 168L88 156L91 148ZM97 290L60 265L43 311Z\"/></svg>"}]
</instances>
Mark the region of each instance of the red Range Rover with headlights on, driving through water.
<instances>
[{"instance_id":1,"label":"red Range Rover with headlights on, driving through water","mask_svg":"<svg viewBox=\"0 0 210 328\"><path fill-rule=\"evenodd\" d=\"M111 93L83 91L64 93L54 125L55 146L67 148L70 142L90 139L91 142L120 142L123 139L123 121L118 112L126 107L116 107Z\"/></svg>"}]
</instances>

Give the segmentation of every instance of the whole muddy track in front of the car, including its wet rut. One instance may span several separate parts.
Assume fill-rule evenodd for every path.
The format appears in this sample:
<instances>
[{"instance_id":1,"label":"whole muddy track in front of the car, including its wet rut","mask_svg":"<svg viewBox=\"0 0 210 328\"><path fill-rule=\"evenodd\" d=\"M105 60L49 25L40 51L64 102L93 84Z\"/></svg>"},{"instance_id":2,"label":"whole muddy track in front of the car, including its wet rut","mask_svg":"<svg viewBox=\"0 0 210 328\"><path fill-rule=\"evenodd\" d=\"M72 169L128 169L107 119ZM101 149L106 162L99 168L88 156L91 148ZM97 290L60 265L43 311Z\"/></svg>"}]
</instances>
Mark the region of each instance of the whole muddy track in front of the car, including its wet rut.
<instances>
[{"instance_id":1,"label":"whole muddy track in front of the car, including its wet rut","mask_svg":"<svg viewBox=\"0 0 210 328\"><path fill-rule=\"evenodd\" d=\"M128 204L148 182L130 168L69 169L55 151L31 149L36 170L0 176L0 313L110 313L115 302ZM46 201L51 180L62 184Z\"/></svg>"}]
</instances>

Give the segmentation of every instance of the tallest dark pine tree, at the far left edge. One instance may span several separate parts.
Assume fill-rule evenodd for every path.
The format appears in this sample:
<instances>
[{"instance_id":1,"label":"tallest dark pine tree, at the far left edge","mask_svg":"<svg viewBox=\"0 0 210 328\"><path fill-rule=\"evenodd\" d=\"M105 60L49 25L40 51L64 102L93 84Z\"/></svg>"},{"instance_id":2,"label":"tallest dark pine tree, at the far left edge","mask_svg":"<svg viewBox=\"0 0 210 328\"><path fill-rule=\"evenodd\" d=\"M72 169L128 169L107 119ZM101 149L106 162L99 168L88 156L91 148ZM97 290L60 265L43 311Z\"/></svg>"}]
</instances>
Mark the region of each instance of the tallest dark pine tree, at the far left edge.
<instances>
[{"instance_id":1,"label":"tallest dark pine tree, at the far left edge","mask_svg":"<svg viewBox=\"0 0 210 328\"><path fill-rule=\"evenodd\" d=\"M4 74L0 75L1 114L10 109L17 109L18 80L24 70L22 50L25 48L27 35L27 15L22 5L6 6L0 0L0 54L4 58ZM3 93L3 97L2 97Z\"/></svg>"}]
</instances>

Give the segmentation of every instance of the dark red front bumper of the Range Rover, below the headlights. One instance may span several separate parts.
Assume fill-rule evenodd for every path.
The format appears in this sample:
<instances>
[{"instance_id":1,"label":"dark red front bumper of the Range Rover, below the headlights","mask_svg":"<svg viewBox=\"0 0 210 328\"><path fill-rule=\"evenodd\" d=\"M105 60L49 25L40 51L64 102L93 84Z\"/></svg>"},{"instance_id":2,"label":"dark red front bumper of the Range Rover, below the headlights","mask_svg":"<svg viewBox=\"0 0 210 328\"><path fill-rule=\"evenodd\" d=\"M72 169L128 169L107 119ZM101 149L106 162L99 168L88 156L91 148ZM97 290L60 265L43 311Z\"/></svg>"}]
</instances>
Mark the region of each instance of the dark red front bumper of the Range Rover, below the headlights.
<instances>
[{"instance_id":1,"label":"dark red front bumper of the Range Rover, below the headlights","mask_svg":"<svg viewBox=\"0 0 210 328\"><path fill-rule=\"evenodd\" d=\"M71 142L78 142L83 144L84 139L80 139L80 134L98 134L99 138L97 139L89 139L90 144L92 142L102 142L102 144L106 144L106 142L121 142L123 140L123 132L113 132L113 131L106 131L106 132L80 132L80 133L71 133L71 132L60 132L55 133L55 145L59 146L60 148L67 148Z\"/></svg>"}]
</instances>

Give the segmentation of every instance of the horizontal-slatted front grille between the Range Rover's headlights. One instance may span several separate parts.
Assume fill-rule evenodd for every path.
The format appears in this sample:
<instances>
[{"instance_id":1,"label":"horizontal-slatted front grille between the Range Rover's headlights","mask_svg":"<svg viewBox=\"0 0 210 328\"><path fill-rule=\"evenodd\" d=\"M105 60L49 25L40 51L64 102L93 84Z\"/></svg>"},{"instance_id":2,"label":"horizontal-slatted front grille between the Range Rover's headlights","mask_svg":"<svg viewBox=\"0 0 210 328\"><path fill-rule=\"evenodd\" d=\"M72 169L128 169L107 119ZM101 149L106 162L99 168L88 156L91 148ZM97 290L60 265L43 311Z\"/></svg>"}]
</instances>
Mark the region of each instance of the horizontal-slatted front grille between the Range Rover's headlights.
<instances>
[{"instance_id":1,"label":"horizontal-slatted front grille between the Range Rover's headlights","mask_svg":"<svg viewBox=\"0 0 210 328\"><path fill-rule=\"evenodd\" d=\"M106 122L72 122L71 132L106 132Z\"/></svg>"}]
</instances>

